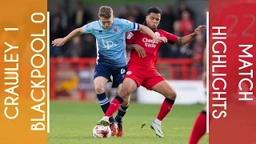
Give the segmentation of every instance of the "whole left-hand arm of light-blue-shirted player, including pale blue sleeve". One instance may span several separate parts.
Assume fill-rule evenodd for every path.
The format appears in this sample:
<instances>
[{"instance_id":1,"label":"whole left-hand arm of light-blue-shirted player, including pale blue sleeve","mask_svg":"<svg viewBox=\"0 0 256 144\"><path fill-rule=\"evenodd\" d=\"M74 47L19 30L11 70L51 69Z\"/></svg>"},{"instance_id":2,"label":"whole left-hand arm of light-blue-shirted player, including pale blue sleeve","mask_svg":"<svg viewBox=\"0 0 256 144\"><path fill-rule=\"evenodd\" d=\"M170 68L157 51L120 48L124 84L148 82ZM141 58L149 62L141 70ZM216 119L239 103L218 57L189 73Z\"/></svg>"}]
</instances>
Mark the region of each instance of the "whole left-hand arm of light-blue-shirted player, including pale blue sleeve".
<instances>
[{"instance_id":1,"label":"whole left-hand arm of light-blue-shirted player, including pale blue sleeve","mask_svg":"<svg viewBox=\"0 0 256 144\"><path fill-rule=\"evenodd\" d=\"M92 32L92 27L93 24L92 22L86 24L85 26L79 27L75 30L72 30L70 32L70 34L68 34L66 37L64 38L57 38L54 39L54 41L52 42L53 46L63 46L66 42L68 42L70 39L79 36L81 34L89 34Z\"/></svg>"}]
</instances>

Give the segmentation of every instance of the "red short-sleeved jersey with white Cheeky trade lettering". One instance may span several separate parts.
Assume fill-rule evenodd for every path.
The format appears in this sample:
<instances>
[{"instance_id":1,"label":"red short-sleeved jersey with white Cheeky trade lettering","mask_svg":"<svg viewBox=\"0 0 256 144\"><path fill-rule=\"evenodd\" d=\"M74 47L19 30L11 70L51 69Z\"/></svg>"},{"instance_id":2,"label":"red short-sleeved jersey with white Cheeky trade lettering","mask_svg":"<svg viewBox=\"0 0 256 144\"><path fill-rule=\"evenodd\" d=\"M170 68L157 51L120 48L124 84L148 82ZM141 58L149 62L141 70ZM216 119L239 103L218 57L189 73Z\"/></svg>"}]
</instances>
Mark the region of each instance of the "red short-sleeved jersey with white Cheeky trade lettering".
<instances>
[{"instance_id":1,"label":"red short-sleeved jersey with white Cheeky trade lettering","mask_svg":"<svg viewBox=\"0 0 256 144\"><path fill-rule=\"evenodd\" d=\"M165 30L157 30L155 34L161 37L166 37L168 42L174 44L178 40L178 37L166 32ZM156 70L155 64L158 58L159 47L162 42L154 42L147 34L143 34L141 31L134 31L134 33L128 34L126 37L126 44L137 44L142 46L146 52L145 58L140 58L136 50L130 51L129 66L139 67L139 69Z\"/></svg>"}]
</instances>

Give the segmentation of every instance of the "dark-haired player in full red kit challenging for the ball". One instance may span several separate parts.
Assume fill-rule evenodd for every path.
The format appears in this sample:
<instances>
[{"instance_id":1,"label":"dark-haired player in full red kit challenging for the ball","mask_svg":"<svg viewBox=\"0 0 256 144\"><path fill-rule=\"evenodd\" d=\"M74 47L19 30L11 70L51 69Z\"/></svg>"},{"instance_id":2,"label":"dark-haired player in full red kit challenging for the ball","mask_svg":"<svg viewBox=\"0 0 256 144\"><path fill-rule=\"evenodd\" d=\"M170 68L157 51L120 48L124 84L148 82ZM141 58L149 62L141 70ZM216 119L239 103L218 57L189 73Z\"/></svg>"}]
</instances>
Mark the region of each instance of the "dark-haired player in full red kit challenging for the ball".
<instances>
[{"instance_id":1,"label":"dark-haired player in full red kit challenging for the ball","mask_svg":"<svg viewBox=\"0 0 256 144\"><path fill-rule=\"evenodd\" d=\"M159 30L158 24L161 19L161 10L158 7L151 7L147 11L146 26L150 27L158 36L166 37L171 44L185 45L191 42L202 30L206 29L206 26L198 26L194 30L194 33L186 35L182 38L166 32L165 30ZM134 92L139 86L144 86L148 90L154 90L166 97L162 102L162 106L158 113L157 118L151 123L150 127L155 133L162 138L161 122L162 119L172 109L174 101L176 99L176 93L170 84L158 73L155 67L158 58L158 50L162 45L162 42L155 42L147 34L143 34L140 31L135 31L127 36L127 44L131 44L135 50L142 50L138 53L135 50L130 52L130 60L128 62L128 70L126 72L125 79L122 83L122 88L118 95L111 102L109 109L106 111L104 117L98 122L98 125L108 126L109 117L114 114L122 103L128 106L130 98L129 95ZM128 46L129 47L129 46ZM143 48L143 49L142 49ZM145 53L146 52L146 53ZM123 106L123 105L122 105ZM118 136L122 136L122 125L118 125Z\"/></svg>"}]
</instances>

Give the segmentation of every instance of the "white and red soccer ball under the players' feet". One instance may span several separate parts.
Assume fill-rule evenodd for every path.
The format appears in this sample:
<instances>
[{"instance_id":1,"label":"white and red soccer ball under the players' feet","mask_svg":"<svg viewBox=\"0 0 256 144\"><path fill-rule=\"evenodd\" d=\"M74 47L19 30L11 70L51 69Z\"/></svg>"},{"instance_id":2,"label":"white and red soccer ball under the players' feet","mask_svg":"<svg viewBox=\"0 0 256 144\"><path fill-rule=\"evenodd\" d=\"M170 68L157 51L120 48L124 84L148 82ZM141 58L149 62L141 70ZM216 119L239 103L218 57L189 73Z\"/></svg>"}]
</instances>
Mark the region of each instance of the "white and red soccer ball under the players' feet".
<instances>
[{"instance_id":1,"label":"white and red soccer ball under the players' feet","mask_svg":"<svg viewBox=\"0 0 256 144\"><path fill-rule=\"evenodd\" d=\"M110 126L95 126L93 129L93 137L94 138L110 138L111 129Z\"/></svg>"}]
</instances>

